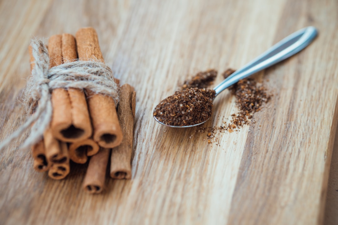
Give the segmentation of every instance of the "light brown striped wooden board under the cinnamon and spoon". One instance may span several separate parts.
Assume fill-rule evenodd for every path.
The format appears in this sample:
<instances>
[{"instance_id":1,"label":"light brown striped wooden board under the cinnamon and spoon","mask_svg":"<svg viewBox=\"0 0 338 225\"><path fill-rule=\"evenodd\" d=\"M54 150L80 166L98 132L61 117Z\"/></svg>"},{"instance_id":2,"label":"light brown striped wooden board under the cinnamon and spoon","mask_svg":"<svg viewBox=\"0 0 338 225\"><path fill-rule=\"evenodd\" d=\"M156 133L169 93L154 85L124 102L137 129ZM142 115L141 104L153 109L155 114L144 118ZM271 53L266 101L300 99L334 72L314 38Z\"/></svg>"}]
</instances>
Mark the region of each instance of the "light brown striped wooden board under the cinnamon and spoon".
<instances>
[{"instance_id":1,"label":"light brown striped wooden board under the cinnamon and spoon","mask_svg":"<svg viewBox=\"0 0 338 225\"><path fill-rule=\"evenodd\" d=\"M87 164L51 180L33 170L30 149L18 151L24 134L0 152L0 224L323 223L338 118L337 10L336 0L0 1L0 140L20 125L29 38L93 26L105 61L137 92L131 180L108 179L103 194L89 195ZM309 47L256 75L274 94L256 123L216 133L216 145L199 128L153 120L189 76L239 68L309 25L319 30ZM234 100L220 94L205 127L230 119Z\"/></svg>"}]
</instances>

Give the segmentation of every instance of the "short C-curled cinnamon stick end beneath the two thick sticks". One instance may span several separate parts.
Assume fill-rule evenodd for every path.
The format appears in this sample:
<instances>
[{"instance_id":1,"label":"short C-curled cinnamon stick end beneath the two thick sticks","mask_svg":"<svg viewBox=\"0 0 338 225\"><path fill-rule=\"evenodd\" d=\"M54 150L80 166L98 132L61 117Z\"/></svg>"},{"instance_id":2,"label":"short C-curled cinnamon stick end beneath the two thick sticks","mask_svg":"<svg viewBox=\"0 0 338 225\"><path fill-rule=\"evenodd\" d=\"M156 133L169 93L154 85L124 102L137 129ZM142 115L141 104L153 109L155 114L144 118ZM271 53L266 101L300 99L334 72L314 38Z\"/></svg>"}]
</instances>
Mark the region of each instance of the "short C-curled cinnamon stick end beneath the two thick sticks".
<instances>
[{"instance_id":1,"label":"short C-curled cinnamon stick end beneath the two thick sticks","mask_svg":"<svg viewBox=\"0 0 338 225\"><path fill-rule=\"evenodd\" d=\"M69 145L69 157L74 163L84 164L87 162L87 156L95 155L98 151L99 146L93 139L86 139Z\"/></svg>"}]
</instances>

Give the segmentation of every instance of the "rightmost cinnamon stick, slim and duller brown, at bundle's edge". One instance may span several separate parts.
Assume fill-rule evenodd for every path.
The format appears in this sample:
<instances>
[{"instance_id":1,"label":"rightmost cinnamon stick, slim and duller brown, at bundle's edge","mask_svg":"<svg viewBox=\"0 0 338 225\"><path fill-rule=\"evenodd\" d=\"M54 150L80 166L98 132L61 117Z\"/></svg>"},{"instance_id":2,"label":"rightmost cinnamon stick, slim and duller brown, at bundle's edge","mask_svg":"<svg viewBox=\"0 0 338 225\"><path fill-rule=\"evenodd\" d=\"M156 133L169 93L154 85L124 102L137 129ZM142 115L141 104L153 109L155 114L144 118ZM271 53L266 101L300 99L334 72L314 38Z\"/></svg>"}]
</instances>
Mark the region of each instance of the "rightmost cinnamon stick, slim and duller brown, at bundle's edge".
<instances>
[{"instance_id":1,"label":"rightmost cinnamon stick, slim and duller brown, at bundle's edge","mask_svg":"<svg viewBox=\"0 0 338 225\"><path fill-rule=\"evenodd\" d=\"M131 153L134 132L136 93L129 84L121 86L117 115L123 132L121 144L112 149L110 176L131 179Z\"/></svg>"}]
</instances>

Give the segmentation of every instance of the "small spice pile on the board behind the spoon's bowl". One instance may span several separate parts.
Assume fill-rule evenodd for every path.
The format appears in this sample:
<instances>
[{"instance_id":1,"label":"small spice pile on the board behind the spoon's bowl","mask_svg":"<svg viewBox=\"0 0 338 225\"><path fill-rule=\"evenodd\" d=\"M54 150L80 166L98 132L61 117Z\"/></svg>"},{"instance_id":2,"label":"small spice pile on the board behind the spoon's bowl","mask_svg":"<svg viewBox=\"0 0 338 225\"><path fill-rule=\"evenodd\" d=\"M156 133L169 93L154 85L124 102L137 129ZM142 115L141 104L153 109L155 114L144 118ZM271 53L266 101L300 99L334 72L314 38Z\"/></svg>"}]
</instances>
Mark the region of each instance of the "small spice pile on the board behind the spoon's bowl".
<instances>
[{"instance_id":1,"label":"small spice pile on the board behind the spoon's bowl","mask_svg":"<svg viewBox=\"0 0 338 225\"><path fill-rule=\"evenodd\" d=\"M187 90L192 87L198 87L199 89L206 88L212 84L217 76L217 70L207 70L199 72L191 79L186 80L182 86L182 90Z\"/></svg>"}]
</instances>

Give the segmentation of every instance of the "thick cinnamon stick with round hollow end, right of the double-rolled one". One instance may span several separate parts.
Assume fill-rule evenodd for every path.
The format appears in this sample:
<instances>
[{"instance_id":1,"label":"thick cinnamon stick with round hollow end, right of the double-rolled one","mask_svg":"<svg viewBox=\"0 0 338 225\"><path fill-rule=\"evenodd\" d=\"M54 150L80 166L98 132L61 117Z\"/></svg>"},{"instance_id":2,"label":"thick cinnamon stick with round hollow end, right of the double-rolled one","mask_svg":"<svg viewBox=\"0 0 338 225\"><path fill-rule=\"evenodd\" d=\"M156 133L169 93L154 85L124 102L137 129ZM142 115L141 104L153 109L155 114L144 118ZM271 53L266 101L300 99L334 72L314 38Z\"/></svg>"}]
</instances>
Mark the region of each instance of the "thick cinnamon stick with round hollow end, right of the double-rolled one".
<instances>
[{"instance_id":1,"label":"thick cinnamon stick with round hollow end, right of the double-rolled one","mask_svg":"<svg viewBox=\"0 0 338 225\"><path fill-rule=\"evenodd\" d=\"M81 28L76 32L76 45L79 60L104 62L96 31L92 27ZM87 94L94 141L104 148L118 146L123 136L113 98L90 91Z\"/></svg>"}]
</instances>

